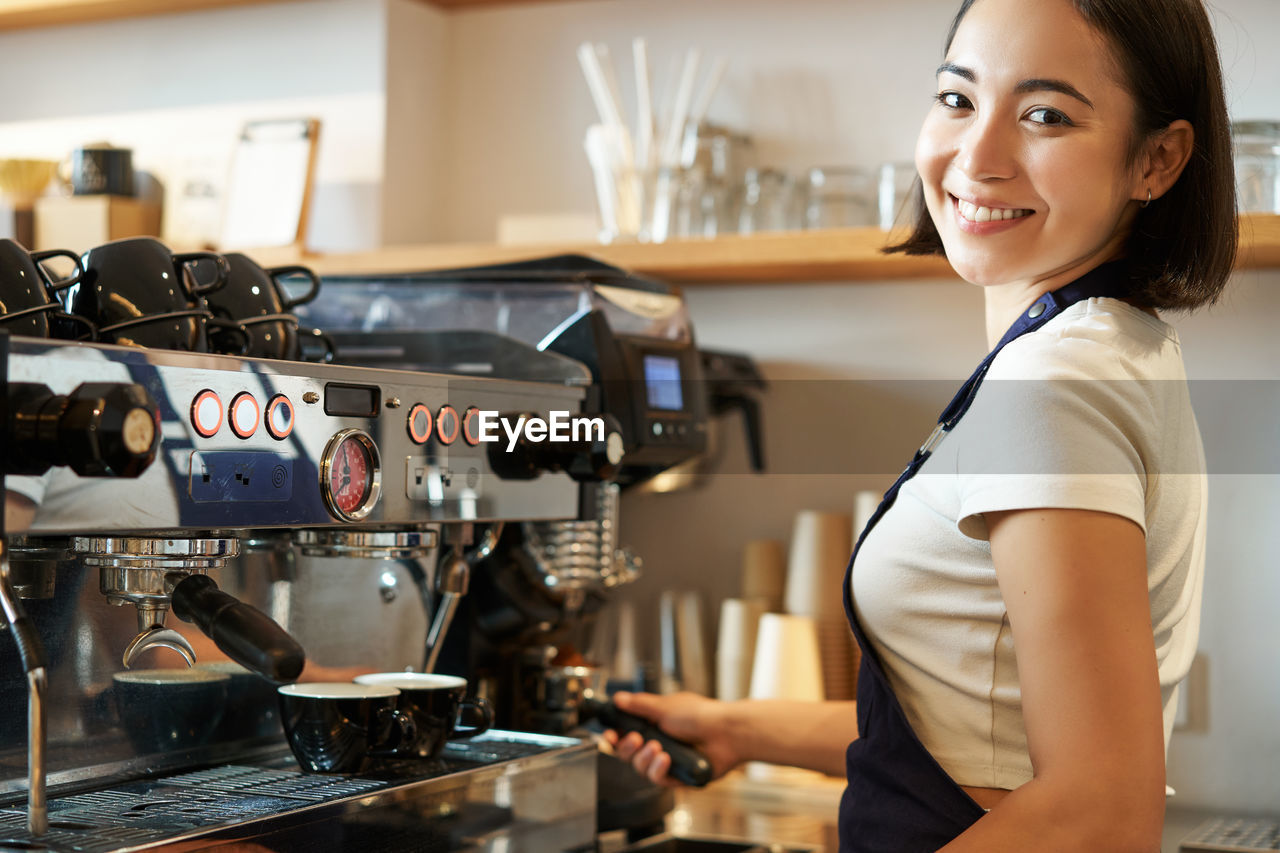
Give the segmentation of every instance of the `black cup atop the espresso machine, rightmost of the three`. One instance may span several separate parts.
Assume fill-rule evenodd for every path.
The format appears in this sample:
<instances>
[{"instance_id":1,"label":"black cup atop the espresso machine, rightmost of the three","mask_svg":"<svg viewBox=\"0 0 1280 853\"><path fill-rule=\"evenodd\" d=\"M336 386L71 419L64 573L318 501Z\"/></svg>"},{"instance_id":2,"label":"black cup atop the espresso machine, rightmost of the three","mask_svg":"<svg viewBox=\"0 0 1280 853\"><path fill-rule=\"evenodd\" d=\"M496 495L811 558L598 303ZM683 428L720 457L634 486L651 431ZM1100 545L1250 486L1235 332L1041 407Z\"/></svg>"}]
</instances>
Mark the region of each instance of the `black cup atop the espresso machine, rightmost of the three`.
<instances>
[{"instance_id":1,"label":"black cup atop the espresso machine, rightmost of the three","mask_svg":"<svg viewBox=\"0 0 1280 853\"><path fill-rule=\"evenodd\" d=\"M303 357L303 339L320 345L320 360L333 361L333 341L317 329L302 328L292 310L306 305L320 293L320 278L306 266L274 266L264 269L251 257L239 252L224 255L230 268L227 287L207 297L214 315L243 325L250 332L250 345L244 355L259 359ZM306 278L307 291L298 297L288 297L282 282L288 278ZM311 347L306 347L310 352Z\"/></svg>"}]
</instances>

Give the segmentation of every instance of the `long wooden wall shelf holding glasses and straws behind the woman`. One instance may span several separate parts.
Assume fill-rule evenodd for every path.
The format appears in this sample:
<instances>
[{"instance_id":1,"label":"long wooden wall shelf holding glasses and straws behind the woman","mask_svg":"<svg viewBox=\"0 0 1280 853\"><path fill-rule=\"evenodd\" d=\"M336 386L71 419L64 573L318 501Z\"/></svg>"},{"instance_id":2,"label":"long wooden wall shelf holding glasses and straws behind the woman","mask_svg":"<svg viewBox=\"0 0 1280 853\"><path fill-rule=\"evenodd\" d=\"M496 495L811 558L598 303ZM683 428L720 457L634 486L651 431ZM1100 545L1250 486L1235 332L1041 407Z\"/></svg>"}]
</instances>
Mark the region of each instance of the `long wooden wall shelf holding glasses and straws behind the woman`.
<instances>
[{"instance_id":1,"label":"long wooden wall shelf holding glasses and straws behind the woman","mask_svg":"<svg viewBox=\"0 0 1280 853\"><path fill-rule=\"evenodd\" d=\"M895 234L896 237L896 234ZM408 273L479 266L559 254L598 260L680 284L788 282L881 282L900 278L951 278L938 257L883 255L887 236L878 228L803 231L668 243L612 246L398 246L351 255L251 252L264 264L302 263L321 275ZM1239 269L1280 268L1280 216L1240 218Z\"/></svg>"}]
</instances>

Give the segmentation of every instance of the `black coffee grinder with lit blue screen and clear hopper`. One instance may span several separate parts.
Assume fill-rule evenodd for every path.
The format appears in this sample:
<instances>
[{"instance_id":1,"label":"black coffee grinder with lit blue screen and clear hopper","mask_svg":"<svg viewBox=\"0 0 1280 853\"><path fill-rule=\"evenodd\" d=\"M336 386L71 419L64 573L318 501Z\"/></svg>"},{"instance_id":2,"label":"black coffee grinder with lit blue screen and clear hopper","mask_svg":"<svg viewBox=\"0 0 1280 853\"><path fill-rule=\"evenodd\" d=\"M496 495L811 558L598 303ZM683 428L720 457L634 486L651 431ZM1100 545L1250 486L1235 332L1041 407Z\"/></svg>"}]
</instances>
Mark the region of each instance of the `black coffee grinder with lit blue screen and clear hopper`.
<instances>
[{"instance_id":1,"label":"black coffee grinder with lit blue screen and clear hopper","mask_svg":"<svg viewBox=\"0 0 1280 853\"><path fill-rule=\"evenodd\" d=\"M589 257L326 277L324 287L326 298L300 314L333 338L339 362L553 383L585 369L582 411L618 423L627 450L616 478L582 483L576 517L503 529L475 565L460 605L465 628L439 660L489 698L499 725L579 731L609 676L595 656L599 616L643 569L618 539L622 491L696 461L710 418L730 409L746 415L759 470L754 362L699 351L671 286ZM602 831L643 838L673 804L669 789L611 756L599 757L598 784Z\"/></svg>"}]
</instances>

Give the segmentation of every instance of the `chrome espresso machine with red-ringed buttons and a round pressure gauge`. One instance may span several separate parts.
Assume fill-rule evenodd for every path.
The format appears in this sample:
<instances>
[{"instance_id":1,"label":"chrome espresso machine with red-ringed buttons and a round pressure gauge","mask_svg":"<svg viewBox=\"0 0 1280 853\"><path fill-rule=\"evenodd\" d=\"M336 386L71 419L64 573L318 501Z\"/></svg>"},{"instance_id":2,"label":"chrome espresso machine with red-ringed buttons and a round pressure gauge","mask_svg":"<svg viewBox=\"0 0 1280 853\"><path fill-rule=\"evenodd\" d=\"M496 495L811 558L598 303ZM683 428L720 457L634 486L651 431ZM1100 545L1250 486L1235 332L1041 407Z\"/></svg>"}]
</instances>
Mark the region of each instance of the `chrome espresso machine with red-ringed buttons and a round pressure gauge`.
<instances>
[{"instance_id":1,"label":"chrome espresso machine with red-ringed buttons and a round pressure gauge","mask_svg":"<svg viewBox=\"0 0 1280 853\"><path fill-rule=\"evenodd\" d=\"M454 365L474 356L454 343ZM589 369L539 365L530 380L0 333L0 849L593 849L590 742L497 727L434 761L305 774L275 716L275 685L312 669L434 669L512 532L550 551L580 533L599 583L625 575L614 423L483 434L486 412L594 414ZM544 584L585 608L563 565Z\"/></svg>"}]
</instances>

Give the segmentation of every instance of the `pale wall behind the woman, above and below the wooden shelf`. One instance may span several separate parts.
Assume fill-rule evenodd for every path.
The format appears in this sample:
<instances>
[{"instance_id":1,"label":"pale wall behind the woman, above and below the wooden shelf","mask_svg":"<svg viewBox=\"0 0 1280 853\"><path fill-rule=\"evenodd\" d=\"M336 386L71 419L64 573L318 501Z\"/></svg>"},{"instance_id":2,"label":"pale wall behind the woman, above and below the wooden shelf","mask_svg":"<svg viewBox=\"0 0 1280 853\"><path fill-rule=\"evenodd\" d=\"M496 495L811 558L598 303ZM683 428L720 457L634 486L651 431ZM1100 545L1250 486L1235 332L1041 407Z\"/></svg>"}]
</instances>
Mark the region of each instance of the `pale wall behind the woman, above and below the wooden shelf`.
<instances>
[{"instance_id":1,"label":"pale wall behind the woman, above and below the wooden shelf","mask_svg":"<svg viewBox=\"0 0 1280 853\"><path fill-rule=\"evenodd\" d=\"M502 214L594 209L580 41L623 56L644 35L659 78L689 46L724 54L712 119L749 131L763 164L874 165L910 156L955 5L593 0L443 15L417 0L307 0L4 33L0 156L108 137L161 170L216 158L246 118L307 111L325 120L314 245L489 240ZM1213 5L1233 114L1276 118L1280 4ZM959 282L689 297L703 345L751 352L774 380L768 452L786 473L746 474L740 430L724 424L721 473L701 489L628 496L623 532L648 565L630 593L640 602L668 585L716 601L733 588L742 542L785 539L796 510L844 511L854 491L884 488L946 401L942 380L966 375L984 348L980 301ZM1277 300L1280 273L1244 273L1222 306L1179 321L1192 377L1275 379ZM1202 412L1215 425L1207 443L1235 421L1270 442L1274 420L1231 414ZM1280 467L1260 469L1211 483L1210 726L1175 735L1183 803L1280 803Z\"/></svg>"}]
</instances>

